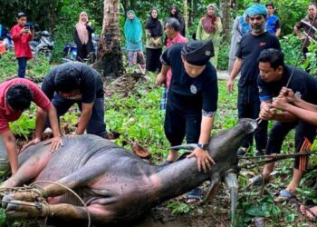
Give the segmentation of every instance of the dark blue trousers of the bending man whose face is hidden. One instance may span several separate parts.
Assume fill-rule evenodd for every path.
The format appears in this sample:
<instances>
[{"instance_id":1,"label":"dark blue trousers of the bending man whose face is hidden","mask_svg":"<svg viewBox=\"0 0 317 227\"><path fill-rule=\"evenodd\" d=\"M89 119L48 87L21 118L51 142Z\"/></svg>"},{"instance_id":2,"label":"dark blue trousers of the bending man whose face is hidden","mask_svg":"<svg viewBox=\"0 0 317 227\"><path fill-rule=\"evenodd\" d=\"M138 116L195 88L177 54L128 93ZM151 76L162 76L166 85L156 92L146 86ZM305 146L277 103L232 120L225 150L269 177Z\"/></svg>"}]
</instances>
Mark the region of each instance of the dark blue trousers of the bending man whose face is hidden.
<instances>
[{"instance_id":1,"label":"dark blue trousers of the bending man whose face is hidden","mask_svg":"<svg viewBox=\"0 0 317 227\"><path fill-rule=\"evenodd\" d=\"M53 106L56 108L57 116L60 118L65 114L72 104L78 104L82 111L82 102L65 99L58 94L54 94L52 100ZM104 123L104 102L103 98L96 98L92 106L91 120L87 124L86 131L90 134L96 134L103 138L107 137L106 124Z\"/></svg>"}]
</instances>

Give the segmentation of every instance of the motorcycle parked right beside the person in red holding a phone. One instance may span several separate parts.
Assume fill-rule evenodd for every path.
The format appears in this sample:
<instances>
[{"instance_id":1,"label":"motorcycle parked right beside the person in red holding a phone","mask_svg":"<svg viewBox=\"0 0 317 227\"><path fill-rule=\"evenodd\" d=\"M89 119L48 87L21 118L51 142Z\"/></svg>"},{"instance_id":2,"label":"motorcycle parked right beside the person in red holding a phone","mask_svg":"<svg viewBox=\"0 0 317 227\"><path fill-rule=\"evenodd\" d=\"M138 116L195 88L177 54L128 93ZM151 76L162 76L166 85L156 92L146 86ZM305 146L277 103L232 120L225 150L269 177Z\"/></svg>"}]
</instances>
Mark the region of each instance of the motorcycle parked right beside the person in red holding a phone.
<instances>
[{"instance_id":1,"label":"motorcycle parked right beside the person in red holding a phone","mask_svg":"<svg viewBox=\"0 0 317 227\"><path fill-rule=\"evenodd\" d=\"M35 33L35 36L37 38L29 42L34 58L43 55L48 62L51 62L54 47L53 35L47 31L41 31Z\"/></svg>"}]
</instances>

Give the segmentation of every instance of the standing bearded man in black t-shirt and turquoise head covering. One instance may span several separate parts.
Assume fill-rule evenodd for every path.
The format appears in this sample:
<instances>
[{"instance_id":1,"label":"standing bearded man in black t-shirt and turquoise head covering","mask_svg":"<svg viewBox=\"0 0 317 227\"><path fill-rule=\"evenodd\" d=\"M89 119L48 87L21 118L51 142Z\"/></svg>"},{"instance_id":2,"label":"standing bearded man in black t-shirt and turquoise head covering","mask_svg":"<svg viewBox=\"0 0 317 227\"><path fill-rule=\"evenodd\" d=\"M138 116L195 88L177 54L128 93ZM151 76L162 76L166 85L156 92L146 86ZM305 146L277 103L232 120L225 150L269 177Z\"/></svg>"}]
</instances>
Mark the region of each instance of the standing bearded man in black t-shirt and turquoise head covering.
<instances>
[{"instance_id":1,"label":"standing bearded man in black t-shirt and turquoise head covering","mask_svg":"<svg viewBox=\"0 0 317 227\"><path fill-rule=\"evenodd\" d=\"M247 9L247 16L252 28L252 32L242 37L239 48L236 52L236 59L233 70L227 82L227 89L231 93L235 76L241 70L241 77L238 83L237 109L238 118L249 117L256 119L260 113L260 100L257 91L256 78L259 74L257 57L262 50L267 48L280 49L280 43L275 35L270 35L264 31L265 17L267 15L264 5L252 5ZM267 142L267 122L262 121L255 132L255 155L262 155ZM253 144L251 134L242 147L238 150L238 155L246 153Z\"/></svg>"}]
</instances>

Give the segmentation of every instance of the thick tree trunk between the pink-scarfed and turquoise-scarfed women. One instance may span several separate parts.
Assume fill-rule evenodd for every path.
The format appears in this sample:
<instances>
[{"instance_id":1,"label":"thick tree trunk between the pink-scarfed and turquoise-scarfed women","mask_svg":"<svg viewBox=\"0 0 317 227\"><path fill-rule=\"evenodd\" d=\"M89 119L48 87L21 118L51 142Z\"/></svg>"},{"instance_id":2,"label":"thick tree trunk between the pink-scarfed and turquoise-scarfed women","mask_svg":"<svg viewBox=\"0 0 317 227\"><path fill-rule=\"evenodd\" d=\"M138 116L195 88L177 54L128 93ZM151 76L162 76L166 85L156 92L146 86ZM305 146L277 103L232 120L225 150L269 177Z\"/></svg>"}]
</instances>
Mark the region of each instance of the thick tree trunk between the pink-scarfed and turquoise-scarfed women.
<instances>
[{"instance_id":1,"label":"thick tree trunk between the pink-scarfed and turquoise-scarfed women","mask_svg":"<svg viewBox=\"0 0 317 227\"><path fill-rule=\"evenodd\" d=\"M104 76L119 76L123 72L120 46L119 0L104 0L101 41L98 62Z\"/></svg>"}]
</instances>

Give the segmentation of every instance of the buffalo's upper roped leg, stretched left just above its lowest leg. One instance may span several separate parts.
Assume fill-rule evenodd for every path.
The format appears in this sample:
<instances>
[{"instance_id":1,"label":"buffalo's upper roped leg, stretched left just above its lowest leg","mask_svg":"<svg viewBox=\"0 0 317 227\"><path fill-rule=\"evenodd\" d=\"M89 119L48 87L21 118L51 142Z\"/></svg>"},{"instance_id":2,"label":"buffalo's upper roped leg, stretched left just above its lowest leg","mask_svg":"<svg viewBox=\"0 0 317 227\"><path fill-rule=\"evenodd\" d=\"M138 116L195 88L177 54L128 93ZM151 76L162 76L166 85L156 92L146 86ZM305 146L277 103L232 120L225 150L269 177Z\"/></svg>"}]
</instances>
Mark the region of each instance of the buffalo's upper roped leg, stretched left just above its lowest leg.
<instances>
[{"instance_id":1,"label":"buffalo's upper roped leg, stretched left just above its lowest leg","mask_svg":"<svg viewBox=\"0 0 317 227\"><path fill-rule=\"evenodd\" d=\"M32 192L14 192L6 194L3 199L3 206L12 200L18 201L34 201L34 192L43 198L55 197L69 192L68 189L75 189L91 183L98 179L105 172L105 166L102 162L93 162L96 164L88 164L79 168L77 171L63 177L56 183L49 183L43 187L43 190ZM39 183L40 184L40 183Z\"/></svg>"}]
</instances>

